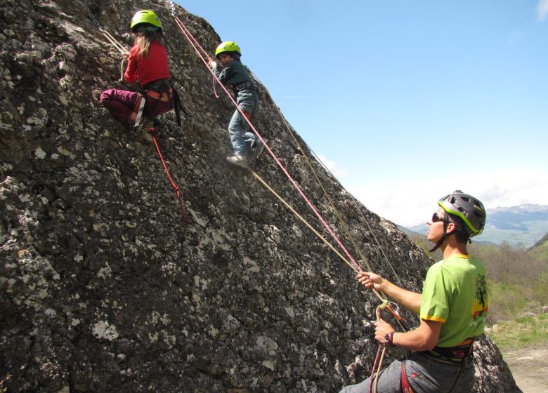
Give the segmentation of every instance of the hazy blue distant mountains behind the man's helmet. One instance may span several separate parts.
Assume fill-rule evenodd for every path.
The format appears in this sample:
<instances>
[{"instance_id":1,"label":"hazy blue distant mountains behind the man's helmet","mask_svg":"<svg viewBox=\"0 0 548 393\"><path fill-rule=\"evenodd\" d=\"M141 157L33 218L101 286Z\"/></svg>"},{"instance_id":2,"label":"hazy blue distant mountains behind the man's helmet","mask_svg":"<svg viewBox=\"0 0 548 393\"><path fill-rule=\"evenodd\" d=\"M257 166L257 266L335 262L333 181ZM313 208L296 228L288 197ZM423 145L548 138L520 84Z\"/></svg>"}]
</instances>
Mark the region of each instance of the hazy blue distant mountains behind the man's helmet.
<instances>
[{"instance_id":1,"label":"hazy blue distant mountains behind the man's helmet","mask_svg":"<svg viewBox=\"0 0 548 393\"><path fill-rule=\"evenodd\" d=\"M408 227L412 232L426 234L426 224ZM525 204L509 208L487 209L487 225L478 241L494 244L507 242L511 246L521 244L531 247L548 233L548 206Z\"/></svg>"}]
</instances>

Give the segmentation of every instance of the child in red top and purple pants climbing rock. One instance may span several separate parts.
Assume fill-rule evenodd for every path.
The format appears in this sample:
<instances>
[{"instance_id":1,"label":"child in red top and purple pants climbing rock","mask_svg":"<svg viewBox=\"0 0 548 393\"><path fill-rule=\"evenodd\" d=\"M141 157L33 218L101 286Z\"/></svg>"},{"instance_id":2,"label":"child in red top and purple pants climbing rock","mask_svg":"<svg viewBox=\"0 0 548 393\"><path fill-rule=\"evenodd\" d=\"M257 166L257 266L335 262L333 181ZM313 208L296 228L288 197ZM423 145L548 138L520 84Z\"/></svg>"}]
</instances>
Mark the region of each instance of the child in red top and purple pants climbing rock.
<instances>
[{"instance_id":1,"label":"child in red top and purple pants climbing rock","mask_svg":"<svg viewBox=\"0 0 548 393\"><path fill-rule=\"evenodd\" d=\"M100 101L118 121L127 120L134 127L140 126L146 138L154 126L155 116L174 106L176 92L171 87L162 22L158 16L150 10L138 11L130 29L135 42L129 55L124 55L128 60L124 79L129 84L138 80L143 92L112 88L101 93Z\"/></svg>"}]
</instances>

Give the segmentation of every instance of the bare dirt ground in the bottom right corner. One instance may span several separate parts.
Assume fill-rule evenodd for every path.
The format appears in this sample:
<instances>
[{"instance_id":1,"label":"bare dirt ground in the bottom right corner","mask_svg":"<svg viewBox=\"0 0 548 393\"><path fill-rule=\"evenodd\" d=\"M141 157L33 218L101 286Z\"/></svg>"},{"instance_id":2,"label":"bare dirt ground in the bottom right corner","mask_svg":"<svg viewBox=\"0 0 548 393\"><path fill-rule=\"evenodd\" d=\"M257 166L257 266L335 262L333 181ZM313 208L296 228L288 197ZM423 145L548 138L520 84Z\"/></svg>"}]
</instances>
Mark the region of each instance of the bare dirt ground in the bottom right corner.
<instances>
[{"instance_id":1,"label":"bare dirt ground in the bottom right corner","mask_svg":"<svg viewBox=\"0 0 548 393\"><path fill-rule=\"evenodd\" d=\"M548 393L548 342L502 351L523 393Z\"/></svg>"}]
</instances>

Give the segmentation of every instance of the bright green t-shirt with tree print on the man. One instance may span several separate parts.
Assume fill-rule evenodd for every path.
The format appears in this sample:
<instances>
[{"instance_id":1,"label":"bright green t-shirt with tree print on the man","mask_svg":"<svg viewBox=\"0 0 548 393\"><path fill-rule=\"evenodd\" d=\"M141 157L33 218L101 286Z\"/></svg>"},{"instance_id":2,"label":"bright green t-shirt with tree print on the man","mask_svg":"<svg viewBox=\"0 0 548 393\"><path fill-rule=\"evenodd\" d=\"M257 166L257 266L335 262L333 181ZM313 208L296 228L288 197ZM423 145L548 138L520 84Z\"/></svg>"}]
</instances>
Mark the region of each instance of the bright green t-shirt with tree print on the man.
<instances>
[{"instance_id":1,"label":"bright green t-shirt with tree print on the man","mask_svg":"<svg viewBox=\"0 0 548 393\"><path fill-rule=\"evenodd\" d=\"M426 273L420 317L443 324L438 347L455 347L483 333L489 298L485 266L471 255L452 255Z\"/></svg>"}]
</instances>

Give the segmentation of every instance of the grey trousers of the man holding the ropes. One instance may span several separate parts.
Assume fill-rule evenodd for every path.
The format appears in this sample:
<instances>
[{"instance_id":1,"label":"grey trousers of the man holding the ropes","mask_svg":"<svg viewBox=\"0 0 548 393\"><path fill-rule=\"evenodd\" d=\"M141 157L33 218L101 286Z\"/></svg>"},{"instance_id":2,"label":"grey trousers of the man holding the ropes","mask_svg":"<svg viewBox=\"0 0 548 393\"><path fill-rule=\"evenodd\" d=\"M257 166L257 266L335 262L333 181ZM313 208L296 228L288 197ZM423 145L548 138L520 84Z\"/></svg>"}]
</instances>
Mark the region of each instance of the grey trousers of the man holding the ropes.
<instances>
[{"instance_id":1,"label":"grey trousers of the man holding the ropes","mask_svg":"<svg viewBox=\"0 0 548 393\"><path fill-rule=\"evenodd\" d=\"M393 361L379 374L378 393L400 393L401 360ZM405 374L415 393L469 393L474 385L474 364L439 361L421 352L412 352L405 360ZM339 393L369 393L370 378L348 385Z\"/></svg>"}]
</instances>

